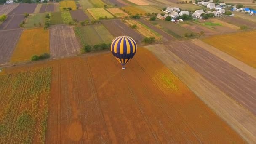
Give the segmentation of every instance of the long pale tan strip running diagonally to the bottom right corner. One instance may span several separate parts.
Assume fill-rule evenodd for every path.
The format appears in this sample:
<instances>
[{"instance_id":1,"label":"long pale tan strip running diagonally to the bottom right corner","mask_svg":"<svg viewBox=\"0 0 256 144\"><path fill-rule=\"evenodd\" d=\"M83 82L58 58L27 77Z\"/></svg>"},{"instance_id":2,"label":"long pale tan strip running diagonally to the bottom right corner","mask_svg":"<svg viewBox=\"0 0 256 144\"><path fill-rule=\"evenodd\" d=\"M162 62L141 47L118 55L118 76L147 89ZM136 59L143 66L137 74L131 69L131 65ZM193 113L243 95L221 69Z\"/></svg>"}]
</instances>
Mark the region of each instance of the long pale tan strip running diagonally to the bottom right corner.
<instances>
[{"instance_id":1,"label":"long pale tan strip running diagonally to the bottom right corner","mask_svg":"<svg viewBox=\"0 0 256 144\"><path fill-rule=\"evenodd\" d=\"M200 40L197 40L200 41ZM201 45L201 44L200 44ZM217 115L226 121L248 143L256 142L256 117L228 95L216 88L192 67L172 53L165 45L149 45L152 51L190 90L192 90ZM210 48L208 48L209 50ZM213 48L211 48L213 49ZM217 50L214 48L215 51ZM214 50L211 50L213 52ZM216 52L215 52L216 53ZM215 54L214 53L214 54ZM219 56L219 55L218 55ZM229 56L231 57L231 56ZM234 59L234 58L233 58ZM232 63L239 61L226 59ZM245 69L243 69L245 70Z\"/></svg>"}]
</instances>

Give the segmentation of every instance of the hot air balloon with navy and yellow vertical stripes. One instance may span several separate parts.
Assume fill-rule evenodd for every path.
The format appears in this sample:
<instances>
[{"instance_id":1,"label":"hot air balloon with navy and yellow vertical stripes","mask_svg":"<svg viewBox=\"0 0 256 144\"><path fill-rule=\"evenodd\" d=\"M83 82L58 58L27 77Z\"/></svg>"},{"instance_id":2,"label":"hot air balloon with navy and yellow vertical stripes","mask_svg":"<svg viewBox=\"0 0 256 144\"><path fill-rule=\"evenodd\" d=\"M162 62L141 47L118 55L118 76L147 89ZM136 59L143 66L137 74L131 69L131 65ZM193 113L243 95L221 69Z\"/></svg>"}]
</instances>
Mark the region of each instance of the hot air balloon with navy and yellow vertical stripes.
<instances>
[{"instance_id":1,"label":"hot air balloon with navy and yellow vertical stripes","mask_svg":"<svg viewBox=\"0 0 256 144\"><path fill-rule=\"evenodd\" d=\"M112 40L111 51L122 64L122 69L125 69L125 64L131 61L137 51L137 44L133 38L122 35Z\"/></svg>"}]
</instances>

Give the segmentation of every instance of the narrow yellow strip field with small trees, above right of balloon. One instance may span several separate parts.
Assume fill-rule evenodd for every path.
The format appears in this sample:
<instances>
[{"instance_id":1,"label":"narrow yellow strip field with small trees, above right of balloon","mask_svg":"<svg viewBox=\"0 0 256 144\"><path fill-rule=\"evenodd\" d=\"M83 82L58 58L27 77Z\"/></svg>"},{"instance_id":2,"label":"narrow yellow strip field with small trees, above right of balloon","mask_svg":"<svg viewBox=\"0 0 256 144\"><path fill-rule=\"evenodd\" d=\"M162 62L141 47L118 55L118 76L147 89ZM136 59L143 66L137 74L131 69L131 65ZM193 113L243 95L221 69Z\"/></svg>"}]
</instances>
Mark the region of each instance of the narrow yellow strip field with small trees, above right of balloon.
<instances>
[{"instance_id":1,"label":"narrow yellow strip field with small trees, above right of balloon","mask_svg":"<svg viewBox=\"0 0 256 144\"><path fill-rule=\"evenodd\" d=\"M160 41L162 36L158 34L157 32L153 31L147 26L144 26L142 23L135 21L135 20L126 20L126 23L128 23L130 26L136 25L136 30L141 33L141 35L144 35L145 37L155 37L157 41Z\"/></svg>"}]
</instances>

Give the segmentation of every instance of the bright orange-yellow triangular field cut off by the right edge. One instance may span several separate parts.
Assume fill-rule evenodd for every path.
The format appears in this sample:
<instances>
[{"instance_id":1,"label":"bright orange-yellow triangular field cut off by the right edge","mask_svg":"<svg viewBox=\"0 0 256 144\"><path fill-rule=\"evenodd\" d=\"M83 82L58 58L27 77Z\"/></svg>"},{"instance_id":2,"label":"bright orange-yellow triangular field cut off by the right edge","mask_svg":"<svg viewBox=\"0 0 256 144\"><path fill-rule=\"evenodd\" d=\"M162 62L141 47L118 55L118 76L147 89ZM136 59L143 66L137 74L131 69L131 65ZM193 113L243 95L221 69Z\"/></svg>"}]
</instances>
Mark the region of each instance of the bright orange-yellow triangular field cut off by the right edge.
<instances>
[{"instance_id":1,"label":"bright orange-yellow triangular field cut off by the right edge","mask_svg":"<svg viewBox=\"0 0 256 144\"><path fill-rule=\"evenodd\" d=\"M256 68L256 45L252 44L255 39L256 31L252 31L207 37L203 41Z\"/></svg>"}]
</instances>

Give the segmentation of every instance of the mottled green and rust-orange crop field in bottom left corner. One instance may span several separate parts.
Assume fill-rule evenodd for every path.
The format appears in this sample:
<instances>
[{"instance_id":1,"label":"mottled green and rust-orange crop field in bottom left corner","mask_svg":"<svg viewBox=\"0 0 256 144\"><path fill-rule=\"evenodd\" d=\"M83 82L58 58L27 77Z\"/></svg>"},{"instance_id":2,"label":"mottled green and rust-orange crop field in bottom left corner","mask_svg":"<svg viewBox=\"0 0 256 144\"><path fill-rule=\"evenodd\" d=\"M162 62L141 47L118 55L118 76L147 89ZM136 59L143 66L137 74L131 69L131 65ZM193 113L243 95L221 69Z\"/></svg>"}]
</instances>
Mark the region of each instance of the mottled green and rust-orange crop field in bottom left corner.
<instances>
[{"instance_id":1,"label":"mottled green and rust-orange crop field in bottom left corner","mask_svg":"<svg viewBox=\"0 0 256 144\"><path fill-rule=\"evenodd\" d=\"M44 143L51 68L0 75L1 144Z\"/></svg>"}]
</instances>

